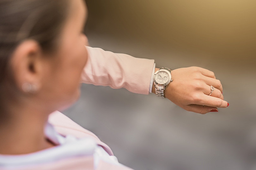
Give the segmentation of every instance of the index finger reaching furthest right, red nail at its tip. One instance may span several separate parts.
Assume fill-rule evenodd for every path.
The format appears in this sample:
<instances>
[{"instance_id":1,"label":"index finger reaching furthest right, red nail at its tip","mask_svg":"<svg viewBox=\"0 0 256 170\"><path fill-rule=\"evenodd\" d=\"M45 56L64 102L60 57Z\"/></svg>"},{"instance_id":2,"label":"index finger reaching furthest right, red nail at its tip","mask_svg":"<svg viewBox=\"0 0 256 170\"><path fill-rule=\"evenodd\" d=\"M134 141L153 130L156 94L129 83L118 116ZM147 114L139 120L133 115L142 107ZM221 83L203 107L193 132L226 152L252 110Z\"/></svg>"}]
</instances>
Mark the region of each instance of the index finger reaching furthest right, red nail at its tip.
<instances>
[{"instance_id":1,"label":"index finger reaching furthest right, red nail at its tip","mask_svg":"<svg viewBox=\"0 0 256 170\"><path fill-rule=\"evenodd\" d=\"M213 96L209 96L209 95L199 96L199 98L195 101L196 101L195 104L197 105L207 105L207 106L221 107L221 108L228 107L227 101L213 97Z\"/></svg>"}]
</instances>

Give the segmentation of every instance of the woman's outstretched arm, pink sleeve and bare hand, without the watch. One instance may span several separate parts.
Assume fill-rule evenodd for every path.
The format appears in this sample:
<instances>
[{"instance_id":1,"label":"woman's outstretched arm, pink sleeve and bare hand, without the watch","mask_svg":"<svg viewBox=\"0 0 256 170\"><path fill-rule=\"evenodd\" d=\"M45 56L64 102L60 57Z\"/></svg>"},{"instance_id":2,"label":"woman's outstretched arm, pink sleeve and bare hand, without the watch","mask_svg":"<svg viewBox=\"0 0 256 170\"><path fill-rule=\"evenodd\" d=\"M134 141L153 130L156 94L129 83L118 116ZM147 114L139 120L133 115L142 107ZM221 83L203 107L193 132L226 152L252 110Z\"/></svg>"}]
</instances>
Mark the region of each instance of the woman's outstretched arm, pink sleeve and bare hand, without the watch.
<instances>
[{"instance_id":1,"label":"woman's outstretched arm, pink sleeve and bare hand, without the watch","mask_svg":"<svg viewBox=\"0 0 256 170\"><path fill-rule=\"evenodd\" d=\"M86 47L88 61L82 73L82 82L87 84L126 88L130 92L155 93L152 82L154 59L132 57L104 51L101 48ZM223 100L222 84L212 71L200 67L179 68L172 71L173 82L165 89L165 97L181 108L201 114L217 111L229 104ZM211 89L215 90L209 96Z\"/></svg>"}]
</instances>

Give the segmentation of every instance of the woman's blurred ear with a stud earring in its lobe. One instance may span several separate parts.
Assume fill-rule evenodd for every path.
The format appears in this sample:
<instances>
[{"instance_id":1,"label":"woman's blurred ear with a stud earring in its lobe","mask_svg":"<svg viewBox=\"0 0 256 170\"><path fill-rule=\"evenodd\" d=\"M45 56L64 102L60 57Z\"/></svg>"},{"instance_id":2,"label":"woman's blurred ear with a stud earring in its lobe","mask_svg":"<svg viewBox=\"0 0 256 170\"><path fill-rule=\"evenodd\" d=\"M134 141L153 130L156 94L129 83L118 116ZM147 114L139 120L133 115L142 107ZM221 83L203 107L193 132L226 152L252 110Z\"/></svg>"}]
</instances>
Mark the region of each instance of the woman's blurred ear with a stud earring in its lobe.
<instances>
[{"instance_id":1,"label":"woman's blurred ear with a stud earring in its lobe","mask_svg":"<svg viewBox=\"0 0 256 170\"><path fill-rule=\"evenodd\" d=\"M24 85L32 85L36 90L40 89L42 56L41 47L34 40L25 40L15 49L10 64L20 90L26 92Z\"/></svg>"}]
</instances>

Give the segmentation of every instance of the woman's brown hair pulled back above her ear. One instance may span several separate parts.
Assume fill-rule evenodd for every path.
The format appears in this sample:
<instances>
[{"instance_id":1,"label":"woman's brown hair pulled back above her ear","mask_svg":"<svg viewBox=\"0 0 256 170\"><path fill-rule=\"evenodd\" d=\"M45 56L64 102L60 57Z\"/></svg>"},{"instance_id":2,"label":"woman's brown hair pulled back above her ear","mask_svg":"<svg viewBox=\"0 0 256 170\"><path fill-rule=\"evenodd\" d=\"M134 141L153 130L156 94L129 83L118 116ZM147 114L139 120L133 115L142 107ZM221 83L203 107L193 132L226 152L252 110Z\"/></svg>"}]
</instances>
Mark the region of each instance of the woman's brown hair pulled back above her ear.
<instances>
[{"instance_id":1,"label":"woman's brown hair pulled back above her ear","mask_svg":"<svg viewBox=\"0 0 256 170\"><path fill-rule=\"evenodd\" d=\"M9 61L14 49L33 39L43 52L53 51L67 14L68 0L0 0L0 105L3 84L11 78Z\"/></svg>"}]
</instances>

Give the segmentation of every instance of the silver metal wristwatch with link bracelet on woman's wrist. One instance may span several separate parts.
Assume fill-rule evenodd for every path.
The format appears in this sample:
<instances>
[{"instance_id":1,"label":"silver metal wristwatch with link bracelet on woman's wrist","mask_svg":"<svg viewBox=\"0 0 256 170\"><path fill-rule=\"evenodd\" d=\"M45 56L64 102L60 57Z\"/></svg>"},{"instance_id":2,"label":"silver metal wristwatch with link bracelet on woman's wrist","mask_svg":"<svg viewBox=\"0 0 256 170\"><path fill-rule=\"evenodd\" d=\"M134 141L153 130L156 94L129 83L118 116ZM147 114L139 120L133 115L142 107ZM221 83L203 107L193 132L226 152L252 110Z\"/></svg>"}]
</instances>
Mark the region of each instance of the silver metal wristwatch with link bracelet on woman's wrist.
<instances>
[{"instance_id":1,"label":"silver metal wristwatch with link bracelet on woman's wrist","mask_svg":"<svg viewBox=\"0 0 256 170\"><path fill-rule=\"evenodd\" d=\"M153 81L155 87L155 94L157 97L166 98L164 97L164 90L168 86L168 84L173 81L171 76L171 70L172 69L162 67L155 72L153 76Z\"/></svg>"}]
</instances>

